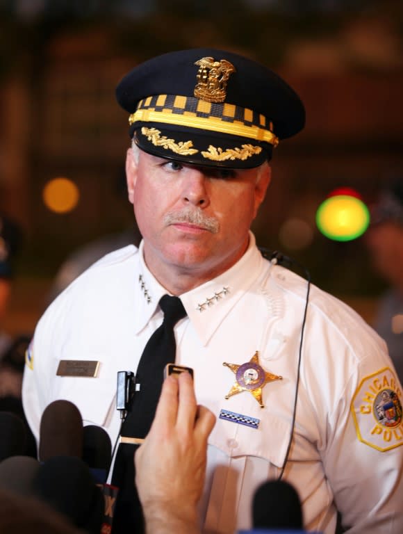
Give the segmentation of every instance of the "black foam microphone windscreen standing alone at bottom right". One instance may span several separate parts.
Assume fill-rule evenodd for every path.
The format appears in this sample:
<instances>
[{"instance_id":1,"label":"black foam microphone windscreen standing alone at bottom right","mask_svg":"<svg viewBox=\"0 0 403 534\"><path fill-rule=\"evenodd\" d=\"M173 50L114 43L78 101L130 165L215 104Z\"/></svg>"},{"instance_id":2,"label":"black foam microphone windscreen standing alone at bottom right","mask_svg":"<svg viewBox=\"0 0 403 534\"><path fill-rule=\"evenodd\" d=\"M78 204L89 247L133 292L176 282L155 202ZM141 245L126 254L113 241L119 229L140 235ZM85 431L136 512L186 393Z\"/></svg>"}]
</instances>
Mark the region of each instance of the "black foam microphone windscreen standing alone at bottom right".
<instances>
[{"instance_id":1,"label":"black foam microphone windscreen standing alone at bottom right","mask_svg":"<svg viewBox=\"0 0 403 534\"><path fill-rule=\"evenodd\" d=\"M256 489L252 504L254 528L303 528L297 490L284 480L268 480Z\"/></svg>"}]
</instances>

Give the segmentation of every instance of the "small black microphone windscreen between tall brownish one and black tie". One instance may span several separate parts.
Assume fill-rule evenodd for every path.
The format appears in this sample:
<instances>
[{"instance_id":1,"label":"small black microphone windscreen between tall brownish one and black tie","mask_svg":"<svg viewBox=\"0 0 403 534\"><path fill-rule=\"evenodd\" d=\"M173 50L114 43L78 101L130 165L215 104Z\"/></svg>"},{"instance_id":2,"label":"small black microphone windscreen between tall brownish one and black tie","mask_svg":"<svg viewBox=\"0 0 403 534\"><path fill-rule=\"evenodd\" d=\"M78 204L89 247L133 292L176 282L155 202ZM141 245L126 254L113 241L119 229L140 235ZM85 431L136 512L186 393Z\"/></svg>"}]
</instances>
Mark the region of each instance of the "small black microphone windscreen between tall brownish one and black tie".
<instances>
[{"instance_id":1,"label":"small black microphone windscreen between tall brownish one and black tie","mask_svg":"<svg viewBox=\"0 0 403 534\"><path fill-rule=\"evenodd\" d=\"M101 426L88 425L83 429L83 460L91 469L109 471L112 444L108 432Z\"/></svg>"}]
</instances>

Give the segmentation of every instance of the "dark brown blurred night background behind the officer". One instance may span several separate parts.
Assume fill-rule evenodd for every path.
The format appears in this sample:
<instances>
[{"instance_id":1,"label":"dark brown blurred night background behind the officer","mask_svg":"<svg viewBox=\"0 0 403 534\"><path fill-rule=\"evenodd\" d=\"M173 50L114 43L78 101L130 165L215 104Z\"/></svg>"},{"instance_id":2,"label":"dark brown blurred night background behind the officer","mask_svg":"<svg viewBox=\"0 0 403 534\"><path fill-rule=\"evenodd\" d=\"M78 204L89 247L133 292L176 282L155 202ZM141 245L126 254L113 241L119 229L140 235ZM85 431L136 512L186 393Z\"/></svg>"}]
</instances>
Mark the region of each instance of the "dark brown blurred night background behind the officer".
<instances>
[{"instance_id":1,"label":"dark brown blurred night background behind the officer","mask_svg":"<svg viewBox=\"0 0 403 534\"><path fill-rule=\"evenodd\" d=\"M306 129L276 149L254 232L371 321L384 283L364 238L329 241L315 211L336 187L370 204L402 177L402 42L400 1L0 1L0 212L24 232L6 329L32 330L73 250L132 224L117 81L151 56L203 46L265 63L302 97ZM44 202L56 177L78 192L63 213Z\"/></svg>"}]
</instances>

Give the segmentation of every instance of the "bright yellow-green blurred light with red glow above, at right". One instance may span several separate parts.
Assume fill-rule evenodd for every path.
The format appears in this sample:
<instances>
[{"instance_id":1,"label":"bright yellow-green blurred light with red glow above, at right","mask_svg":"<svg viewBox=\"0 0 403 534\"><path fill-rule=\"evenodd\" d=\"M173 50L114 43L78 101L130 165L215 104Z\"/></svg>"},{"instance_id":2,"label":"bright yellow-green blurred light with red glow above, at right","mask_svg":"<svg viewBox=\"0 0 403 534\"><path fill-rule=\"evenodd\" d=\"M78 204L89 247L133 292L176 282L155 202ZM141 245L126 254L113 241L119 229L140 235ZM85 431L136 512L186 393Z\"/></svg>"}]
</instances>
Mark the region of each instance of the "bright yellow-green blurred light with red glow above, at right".
<instances>
[{"instance_id":1,"label":"bright yellow-green blurred light with red glow above, at right","mask_svg":"<svg viewBox=\"0 0 403 534\"><path fill-rule=\"evenodd\" d=\"M320 232L335 241L351 241L365 232L370 214L359 198L336 195L324 200L316 213Z\"/></svg>"}]
</instances>

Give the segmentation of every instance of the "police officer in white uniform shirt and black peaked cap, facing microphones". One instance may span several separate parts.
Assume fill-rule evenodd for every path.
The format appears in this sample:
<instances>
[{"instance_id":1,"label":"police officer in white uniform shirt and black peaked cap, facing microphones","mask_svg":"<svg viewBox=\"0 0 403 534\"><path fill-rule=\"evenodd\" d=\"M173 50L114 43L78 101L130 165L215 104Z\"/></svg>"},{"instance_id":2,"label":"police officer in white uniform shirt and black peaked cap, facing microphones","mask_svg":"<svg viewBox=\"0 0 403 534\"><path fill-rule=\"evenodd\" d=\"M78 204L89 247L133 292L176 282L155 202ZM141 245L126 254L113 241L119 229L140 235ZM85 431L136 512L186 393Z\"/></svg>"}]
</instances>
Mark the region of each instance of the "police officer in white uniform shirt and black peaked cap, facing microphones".
<instances>
[{"instance_id":1,"label":"police officer in white uniform shirt and black peaked cap, facing microphones","mask_svg":"<svg viewBox=\"0 0 403 534\"><path fill-rule=\"evenodd\" d=\"M274 148L304 127L299 97L248 58L191 49L135 67L117 100L142 242L98 261L41 318L23 385L33 432L65 398L115 441L116 373L147 369L160 299L179 296L175 362L194 370L197 401L217 416L202 531L249 528L268 478L297 488L307 530L334 533L339 510L351 533L402 531L402 387L385 343L281 257L265 259L249 229Z\"/></svg>"}]
</instances>

